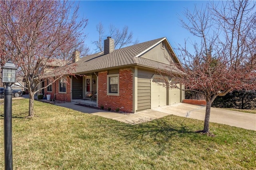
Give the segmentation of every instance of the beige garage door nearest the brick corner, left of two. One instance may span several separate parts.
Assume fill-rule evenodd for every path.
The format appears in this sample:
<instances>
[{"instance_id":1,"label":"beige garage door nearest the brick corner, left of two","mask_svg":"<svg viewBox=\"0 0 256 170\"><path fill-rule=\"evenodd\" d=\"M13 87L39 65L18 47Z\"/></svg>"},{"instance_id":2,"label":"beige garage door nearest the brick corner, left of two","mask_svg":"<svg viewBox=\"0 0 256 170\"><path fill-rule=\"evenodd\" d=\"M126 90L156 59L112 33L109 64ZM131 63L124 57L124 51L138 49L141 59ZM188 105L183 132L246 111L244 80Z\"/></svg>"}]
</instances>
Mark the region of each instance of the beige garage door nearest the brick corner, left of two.
<instances>
[{"instance_id":1,"label":"beige garage door nearest the brick corner, left of two","mask_svg":"<svg viewBox=\"0 0 256 170\"><path fill-rule=\"evenodd\" d=\"M151 81L151 108L167 104L167 91L166 87L163 86L164 84L159 76L153 77Z\"/></svg>"}]
</instances>

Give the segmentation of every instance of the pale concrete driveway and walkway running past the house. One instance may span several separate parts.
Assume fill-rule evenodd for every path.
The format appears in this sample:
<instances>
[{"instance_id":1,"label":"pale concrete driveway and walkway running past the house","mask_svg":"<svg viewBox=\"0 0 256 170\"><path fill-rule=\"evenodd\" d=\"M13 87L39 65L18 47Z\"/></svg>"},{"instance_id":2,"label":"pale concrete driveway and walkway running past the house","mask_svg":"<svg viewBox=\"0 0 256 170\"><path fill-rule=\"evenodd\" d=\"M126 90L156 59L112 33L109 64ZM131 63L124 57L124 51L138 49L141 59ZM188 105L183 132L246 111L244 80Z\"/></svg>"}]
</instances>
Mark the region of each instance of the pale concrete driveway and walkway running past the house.
<instances>
[{"instance_id":1,"label":"pale concrete driveway and walkway running past the house","mask_svg":"<svg viewBox=\"0 0 256 170\"><path fill-rule=\"evenodd\" d=\"M132 125L152 121L154 119L159 119L167 115L176 115L180 117L187 117L203 121L205 115L205 107L189 105L186 103L176 103L169 106L156 107L153 109L148 109L129 115L92 109L89 107L83 107L76 104L77 103L73 102L61 103L56 105L67 107L83 113L89 113L92 115L97 115L108 119L114 119L116 121L129 123ZM251 113L242 113L226 109L211 108L210 122L241 127L250 130L256 130L256 114Z\"/></svg>"}]
</instances>

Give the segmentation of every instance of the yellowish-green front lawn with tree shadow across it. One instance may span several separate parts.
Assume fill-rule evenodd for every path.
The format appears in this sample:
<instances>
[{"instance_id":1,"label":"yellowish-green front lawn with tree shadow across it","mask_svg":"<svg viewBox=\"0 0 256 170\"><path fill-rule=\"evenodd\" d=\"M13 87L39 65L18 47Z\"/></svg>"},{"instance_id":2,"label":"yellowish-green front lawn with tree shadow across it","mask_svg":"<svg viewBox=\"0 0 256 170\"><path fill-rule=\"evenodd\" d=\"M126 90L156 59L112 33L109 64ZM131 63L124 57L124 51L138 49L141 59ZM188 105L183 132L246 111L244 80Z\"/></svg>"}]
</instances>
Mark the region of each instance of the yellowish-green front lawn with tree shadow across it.
<instances>
[{"instance_id":1,"label":"yellowish-green front lawn with tree shadow across it","mask_svg":"<svg viewBox=\"0 0 256 170\"><path fill-rule=\"evenodd\" d=\"M129 125L28 99L13 100L14 169L256 169L256 131L167 116ZM106 113L108 114L108 113ZM4 169L3 105L0 105L0 169Z\"/></svg>"}]
</instances>

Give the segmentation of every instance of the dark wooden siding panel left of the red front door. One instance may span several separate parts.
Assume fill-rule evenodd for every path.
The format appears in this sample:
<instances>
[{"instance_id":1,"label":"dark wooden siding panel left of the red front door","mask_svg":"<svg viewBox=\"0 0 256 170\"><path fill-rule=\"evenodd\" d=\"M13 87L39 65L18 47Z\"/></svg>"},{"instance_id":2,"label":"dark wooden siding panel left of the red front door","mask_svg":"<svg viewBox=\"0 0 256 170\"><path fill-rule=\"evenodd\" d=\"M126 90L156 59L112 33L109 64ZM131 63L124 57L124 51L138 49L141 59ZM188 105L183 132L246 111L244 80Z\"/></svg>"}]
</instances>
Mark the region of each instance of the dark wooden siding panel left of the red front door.
<instances>
[{"instance_id":1,"label":"dark wooden siding panel left of the red front door","mask_svg":"<svg viewBox=\"0 0 256 170\"><path fill-rule=\"evenodd\" d=\"M72 77L72 99L83 98L83 77Z\"/></svg>"}]
</instances>

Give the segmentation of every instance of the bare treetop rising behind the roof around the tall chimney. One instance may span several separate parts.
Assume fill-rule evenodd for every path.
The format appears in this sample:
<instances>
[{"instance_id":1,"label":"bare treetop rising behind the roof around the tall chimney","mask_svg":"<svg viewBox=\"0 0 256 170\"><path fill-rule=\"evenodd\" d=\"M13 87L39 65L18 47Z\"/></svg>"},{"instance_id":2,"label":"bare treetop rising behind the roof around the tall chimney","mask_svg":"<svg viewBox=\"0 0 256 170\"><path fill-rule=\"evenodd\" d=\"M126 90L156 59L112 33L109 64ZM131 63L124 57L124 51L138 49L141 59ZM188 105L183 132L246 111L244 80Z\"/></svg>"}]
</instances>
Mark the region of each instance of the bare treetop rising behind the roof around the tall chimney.
<instances>
[{"instance_id":1,"label":"bare treetop rising behind the roof around the tall chimney","mask_svg":"<svg viewBox=\"0 0 256 170\"><path fill-rule=\"evenodd\" d=\"M103 24L100 22L96 26L96 29L99 34L99 39L98 39L98 41L95 41L93 43L97 47L96 51L103 51L104 50L103 41L107 37L107 36L103 35L105 33ZM129 32L128 26L124 26L122 28L122 30L120 30L119 28L116 28L116 26L114 26L113 24L110 24L108 36L110 36L111 38L114 39L114 41L115 41L114 48L115 49L120 49L120 48L122 48L126 45L129 45L129 44L132 44L132 43L133 44L138 43L138 39L136 39L133 42L133 40L132 40L133 33Z\"/></svg>"}]
</instances>

